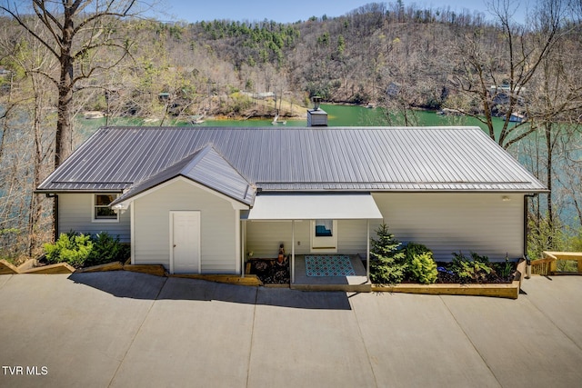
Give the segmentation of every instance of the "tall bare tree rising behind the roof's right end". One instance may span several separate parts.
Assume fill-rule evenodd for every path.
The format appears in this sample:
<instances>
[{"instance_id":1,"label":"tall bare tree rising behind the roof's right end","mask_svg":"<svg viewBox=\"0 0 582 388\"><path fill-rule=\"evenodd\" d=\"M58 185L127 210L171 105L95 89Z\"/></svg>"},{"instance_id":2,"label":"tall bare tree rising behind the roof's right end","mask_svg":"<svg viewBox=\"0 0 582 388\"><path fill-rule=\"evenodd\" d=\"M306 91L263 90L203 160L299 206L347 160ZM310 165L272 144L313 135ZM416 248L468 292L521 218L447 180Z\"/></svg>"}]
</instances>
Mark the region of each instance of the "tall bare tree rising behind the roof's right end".
<instances>
[{"instance_id":1,"label":"tall bare tree rising behind the roof's right end","mask_svg":"<svg viewBox=\"0 0 582 388\"><path fill-rule=\"evenodd\" d=\"M487 125L489 135L504 148L516 144L536 128L527 120L511 123L514 113L526 113L530 84L540 65L564 36L562 0L544 0L544 23L528 29L514 21L519 2L492 0L489 4L497 25L468 32L459 29L455 54L459 59L452 84L461 94L476 102L474 110L465 110ZM495 36L503 37L497 45ZM504 124L498 133L493 117L501 116Z\"/></svg>"}]
</instances>

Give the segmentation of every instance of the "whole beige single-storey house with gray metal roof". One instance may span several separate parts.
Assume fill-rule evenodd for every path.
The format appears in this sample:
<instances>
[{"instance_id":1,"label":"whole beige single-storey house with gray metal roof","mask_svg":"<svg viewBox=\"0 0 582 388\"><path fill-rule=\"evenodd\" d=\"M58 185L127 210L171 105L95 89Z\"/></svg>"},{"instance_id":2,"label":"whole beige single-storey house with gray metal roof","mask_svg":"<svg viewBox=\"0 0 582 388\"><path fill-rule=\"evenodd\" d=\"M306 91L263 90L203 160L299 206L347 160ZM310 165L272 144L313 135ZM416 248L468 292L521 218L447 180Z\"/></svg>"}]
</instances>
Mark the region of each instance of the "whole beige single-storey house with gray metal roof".
<instances>
[{"instance_id":1,"label":"whole beige single-storey house with gray metal roof","mask_svg":"<svg viewBox=\"0 0 582 388\"><path fill-rule=\"evenodd\" d=\"M517 259L544 191L477 127L326 126L103 127L36 190L55 194L57 232L119 235L132 264L174 274L244 274L280 244L292 265L366 263L381 223L437 260Z\"/></svg>"}]
</instances>

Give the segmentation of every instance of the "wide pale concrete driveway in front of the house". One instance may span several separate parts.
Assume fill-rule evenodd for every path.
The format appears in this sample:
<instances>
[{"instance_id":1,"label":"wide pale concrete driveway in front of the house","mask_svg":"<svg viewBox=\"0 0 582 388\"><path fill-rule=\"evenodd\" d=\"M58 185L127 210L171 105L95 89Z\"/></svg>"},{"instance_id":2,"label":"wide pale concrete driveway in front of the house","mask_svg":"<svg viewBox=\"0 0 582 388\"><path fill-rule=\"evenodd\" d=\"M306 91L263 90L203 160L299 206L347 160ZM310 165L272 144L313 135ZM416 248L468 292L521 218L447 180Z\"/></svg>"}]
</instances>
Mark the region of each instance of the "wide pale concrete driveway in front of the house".
<instances>
[{"instance_id":1,"label":"wide pale concrete driveway in front of the house","mask_svg":"<svg viewBox=\"0 0 582 388\"><path fill-rule=\"evenodd\" d=\"M575 387L582 277L517 300L0 275L0 387Z\"/></svg>"}]
</instances>

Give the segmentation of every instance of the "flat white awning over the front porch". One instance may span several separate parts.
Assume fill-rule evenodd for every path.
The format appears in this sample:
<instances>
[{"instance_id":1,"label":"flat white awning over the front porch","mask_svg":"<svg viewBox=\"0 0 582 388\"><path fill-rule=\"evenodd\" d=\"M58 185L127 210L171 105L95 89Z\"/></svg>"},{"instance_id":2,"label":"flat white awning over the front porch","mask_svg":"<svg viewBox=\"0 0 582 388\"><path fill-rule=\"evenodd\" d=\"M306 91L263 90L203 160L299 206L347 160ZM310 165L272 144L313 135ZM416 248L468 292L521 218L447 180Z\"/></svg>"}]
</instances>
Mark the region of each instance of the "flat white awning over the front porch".
<instances>
[{"instance_id":1,"label":"flat white awning over the front porch","mask_svg":"<svg viewBox=\"0 0 582 388\"><path fill-rule=\"evenodd\" d=\"M257 195L249 220L365 220L382 214L370 194Z\"/></svg>"}]
</instances>

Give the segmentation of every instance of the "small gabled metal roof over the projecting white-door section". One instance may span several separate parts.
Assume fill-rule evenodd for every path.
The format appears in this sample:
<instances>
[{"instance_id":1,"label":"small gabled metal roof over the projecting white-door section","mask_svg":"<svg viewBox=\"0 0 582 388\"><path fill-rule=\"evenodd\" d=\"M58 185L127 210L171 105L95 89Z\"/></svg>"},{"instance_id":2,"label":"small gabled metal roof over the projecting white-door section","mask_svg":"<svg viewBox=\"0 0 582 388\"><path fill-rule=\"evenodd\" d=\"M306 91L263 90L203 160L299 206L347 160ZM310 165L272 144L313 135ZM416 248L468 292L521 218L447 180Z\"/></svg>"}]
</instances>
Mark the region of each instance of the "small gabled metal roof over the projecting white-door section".
<instances>
[{"instance_id":1,"label":"small gabled metal roof over the projecting white-door section","mask_svg":"<svg viewBox=\"0 0 582 388\"><path fill-rule=\"evenodd\" d=\"M251 184L222 155L218 154L211 144L208 144L165 170L134 184L111 205L121 204L137 194L144 193L178 176L203 184L243 204L253 203L255 190Z\"/></svg>"}]
</instances>

